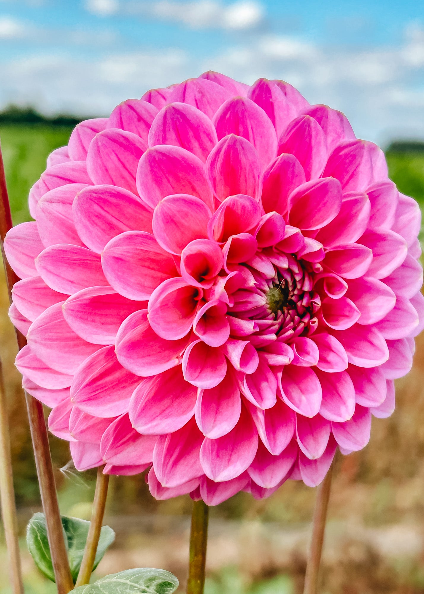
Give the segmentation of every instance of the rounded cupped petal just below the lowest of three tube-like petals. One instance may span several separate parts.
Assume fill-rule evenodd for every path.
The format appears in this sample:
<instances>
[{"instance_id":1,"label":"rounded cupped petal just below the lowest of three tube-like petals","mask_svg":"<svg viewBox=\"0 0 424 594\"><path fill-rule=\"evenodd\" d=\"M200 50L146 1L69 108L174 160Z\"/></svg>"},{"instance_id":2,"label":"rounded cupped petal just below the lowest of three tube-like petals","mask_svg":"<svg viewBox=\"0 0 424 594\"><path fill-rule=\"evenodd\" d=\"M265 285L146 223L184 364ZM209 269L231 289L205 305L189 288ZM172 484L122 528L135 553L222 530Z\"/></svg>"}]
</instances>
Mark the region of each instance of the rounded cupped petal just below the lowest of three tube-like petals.
<instances>
[{"instance_id":1,"label":"rounded cupped petal just below the lowest of three tube-like petals","mask_svg":"<svg viewBox=\"0 0 424 594\"><path fill-rule=\"evenodd\" d=\"M198 388L214 388L224 379L227 362L223 350L196 340L189 345L182 358L186 381Z\"/></svg>"}]
</instances>

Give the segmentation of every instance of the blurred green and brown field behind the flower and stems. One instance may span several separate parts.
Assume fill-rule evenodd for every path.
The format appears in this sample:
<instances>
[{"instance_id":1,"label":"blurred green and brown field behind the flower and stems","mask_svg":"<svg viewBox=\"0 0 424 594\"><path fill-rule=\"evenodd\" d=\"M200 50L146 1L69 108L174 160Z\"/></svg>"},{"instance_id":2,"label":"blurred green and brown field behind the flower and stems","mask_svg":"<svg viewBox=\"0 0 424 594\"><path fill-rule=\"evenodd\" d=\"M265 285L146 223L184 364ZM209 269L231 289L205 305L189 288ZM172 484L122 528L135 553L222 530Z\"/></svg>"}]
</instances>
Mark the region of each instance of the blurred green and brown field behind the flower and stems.
<instances>
[{"instance_id":1,"label":"blurred green and brown field behind the flower and stems","mask_svg":"<svg viewBox=\"0 0 424 594\"><path fill-rule=\"evenodd\" d=\"M27 196L46 157L67 143L70 128L2 125L0 140L14 223L29 219ZM398 188L424 206L424 154L387 155ZM20 377L14 368L14 331L7 318L0 276L0 356L10 406L15 488L21 532L39 509L36 475ZM324 552L322 594L422 594L424 592L424 338L414 368L397 384L397 410L375 419L365 450L342 457L336 470ZM68 444L51 440L63 513L87 517L93 476L60 472ZM267 501L247 494L211 510L207 594L299 594L315 491L289 482ZM156 502L142 477L112 478L107 516L116 545L99 566L113 573L130 566L164 567L185 579L189 498ZM179 519L183 519L182 527ZM178 520L178 521L177 521ZM23 541L24 549L24 541ZM24 554L27 594L54 587ZM0 576L7 575L0 546ZM0 594L10 594L6 578Z\"/></svg>"}]
</instances>

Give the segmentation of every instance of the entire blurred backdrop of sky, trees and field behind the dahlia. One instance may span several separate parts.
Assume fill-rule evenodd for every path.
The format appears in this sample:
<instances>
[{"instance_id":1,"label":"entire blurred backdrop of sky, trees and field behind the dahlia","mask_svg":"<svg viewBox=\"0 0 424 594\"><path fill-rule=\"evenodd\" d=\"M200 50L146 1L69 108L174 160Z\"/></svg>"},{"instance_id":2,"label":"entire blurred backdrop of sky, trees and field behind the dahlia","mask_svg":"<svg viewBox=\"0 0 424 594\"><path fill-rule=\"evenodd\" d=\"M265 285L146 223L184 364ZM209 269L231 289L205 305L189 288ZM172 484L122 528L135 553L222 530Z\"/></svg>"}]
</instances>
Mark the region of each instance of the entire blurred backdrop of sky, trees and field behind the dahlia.
<instances>
[{"instance_id":1,"label":"entire blurred backdrop of sky, trees and field behind the dahlia","mask_svg":"<svg viewBox=\"0 0 424 594\"><path fill-rule=\"evenodd\" d=\"M424 205L424 11L398 0L0 0L0 139L14 223L46 157L87 116L216 69L245 83L295 85L346 113L385 149L398 188ZM5 369L27 594L53 584L24 532L40 499L14 331L0 272ZM424 337L397 383L392 418L374 419L362 452L340 457L322 562L322 594L424 593ZM88 519L94 475L51 440L62 513ZM315 489L289 482L269 500L239 494L211 509L207 594L300 594ZM191 500L157 502L143 476L112 478L105 522L115 545L97 575L162 567L185 585ZM2 535L1 535L2 536ZM0 539L0 594L11 592Z\"/></svg>"}]
</instances>

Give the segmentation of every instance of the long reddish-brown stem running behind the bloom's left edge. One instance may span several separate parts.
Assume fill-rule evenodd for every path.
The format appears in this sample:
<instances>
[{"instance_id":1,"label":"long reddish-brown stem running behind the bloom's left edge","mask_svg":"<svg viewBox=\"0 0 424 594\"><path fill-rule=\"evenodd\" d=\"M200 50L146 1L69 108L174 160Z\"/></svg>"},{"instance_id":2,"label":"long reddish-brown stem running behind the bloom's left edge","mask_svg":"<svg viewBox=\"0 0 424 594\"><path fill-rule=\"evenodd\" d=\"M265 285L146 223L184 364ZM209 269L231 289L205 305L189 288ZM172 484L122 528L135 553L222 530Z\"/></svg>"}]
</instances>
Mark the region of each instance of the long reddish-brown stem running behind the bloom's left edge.
<instances>
[{"instance_id":1,"label":"long reddish-brown stem running behind the bloom's left edge","mask_svg":"<svg viewBox=\"0 0 424 594\"><path fill-rule=\"evenodd\" d=\"M0 247L6 273L9 299L11 290L18 277L10 267L3 249L6 233L12 228L12 217L7 195L6 178L3 159L0 150ZM25 337L17 331L18 347L26 345ZM55 476L53 474L52 457L50 455L49 437L43 405L38 400L25 392L28 418L33 443L34 458L40 486L41 500L46 517L47 535L49 539L50 554L52 557L53 571L58 594L70 592L74 583L69 569L67 549L62 529L61 514L59 511L58 496L56 494Z\"/></svg>"}]
</instances>

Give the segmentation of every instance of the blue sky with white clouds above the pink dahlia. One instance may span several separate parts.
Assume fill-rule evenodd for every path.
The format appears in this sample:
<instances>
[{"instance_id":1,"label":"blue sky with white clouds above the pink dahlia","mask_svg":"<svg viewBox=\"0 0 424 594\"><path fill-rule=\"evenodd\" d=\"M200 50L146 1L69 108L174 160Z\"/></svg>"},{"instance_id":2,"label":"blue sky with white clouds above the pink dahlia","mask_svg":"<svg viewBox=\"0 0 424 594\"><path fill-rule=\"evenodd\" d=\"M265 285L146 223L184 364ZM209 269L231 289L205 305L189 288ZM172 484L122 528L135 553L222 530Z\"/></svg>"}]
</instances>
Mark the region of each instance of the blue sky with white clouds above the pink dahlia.
<instances>
[{"instance_id":1,"label":"blue sky with white clouds above the pink dahlia","mask_svg":"<svg viewBox=\"0 0 424 594\"><path fill-rule=\"evenodd\" d=\"M424 138L420 2L0 0L0 108L107 115L207 69L283 78L381 144Z\"/></svg>"}]
</instances>

